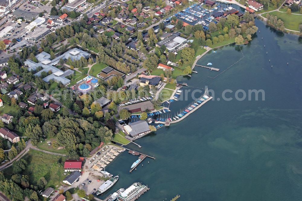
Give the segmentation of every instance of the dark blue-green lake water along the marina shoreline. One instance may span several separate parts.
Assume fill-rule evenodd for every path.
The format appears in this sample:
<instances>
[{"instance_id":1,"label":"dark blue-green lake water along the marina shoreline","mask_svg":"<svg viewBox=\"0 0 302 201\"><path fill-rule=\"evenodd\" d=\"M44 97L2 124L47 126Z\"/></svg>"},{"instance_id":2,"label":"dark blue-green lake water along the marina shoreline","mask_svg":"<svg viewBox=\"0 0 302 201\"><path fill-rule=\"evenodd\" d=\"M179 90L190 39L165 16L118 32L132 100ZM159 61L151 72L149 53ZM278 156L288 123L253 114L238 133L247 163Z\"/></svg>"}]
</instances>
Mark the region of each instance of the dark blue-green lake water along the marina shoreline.
<instances>
[{"instance_id":1,"label":"dark blue-green lake water along the marina shoreline","mask_svg":"<svg viewBox=\"0 0 302 201\"><path fill-rule=\"evenodd\" d=\"M302 44L295 35L276 33L258 20L256 25L260 33L248 45L217 49L197 63L211 62L219 72L195 67L198 74L192 78L178 78L188 83L183 89L189 95L208 86L214 101L180 123L138 139L142 148L130 145L156 160L145 159L130 174L137 157L127 152L118 156L106 167L120 176L107 195L142 182L150 190L140 201L170 200L176 194L179 200L301 200ZM208 77L243 56L217 78ZM222 100L226 89L233 91L226 94L232 101ZM235 100L237 90L252 89L264 90L265 101L261 96L259 101ZM172 103L171 113L191 101Z\"/></svg>"}]
</instances>

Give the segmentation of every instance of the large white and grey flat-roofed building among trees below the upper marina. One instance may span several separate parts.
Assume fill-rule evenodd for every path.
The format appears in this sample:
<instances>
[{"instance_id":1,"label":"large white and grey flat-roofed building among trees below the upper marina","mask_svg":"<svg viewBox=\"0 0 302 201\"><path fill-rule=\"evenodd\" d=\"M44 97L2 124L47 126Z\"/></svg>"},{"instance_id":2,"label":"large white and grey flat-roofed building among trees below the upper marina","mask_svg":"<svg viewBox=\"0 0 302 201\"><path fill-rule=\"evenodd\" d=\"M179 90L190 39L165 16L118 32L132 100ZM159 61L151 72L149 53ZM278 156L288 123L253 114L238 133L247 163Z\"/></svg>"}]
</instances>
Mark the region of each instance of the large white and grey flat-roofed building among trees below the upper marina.
<instances>
[{"instance_id":1,"label":"large white and grey flat-roofed building among trees below the upper marina","mask_svg":"<svg viewBox=\"0 0 302 201\"><path fill-rule=\"evenodd\" d=\"M172 34L172 36L156 43L157 47L165 45L169 52L176 52L188 46L187 39Z\"/></svg>"}]
</instances>

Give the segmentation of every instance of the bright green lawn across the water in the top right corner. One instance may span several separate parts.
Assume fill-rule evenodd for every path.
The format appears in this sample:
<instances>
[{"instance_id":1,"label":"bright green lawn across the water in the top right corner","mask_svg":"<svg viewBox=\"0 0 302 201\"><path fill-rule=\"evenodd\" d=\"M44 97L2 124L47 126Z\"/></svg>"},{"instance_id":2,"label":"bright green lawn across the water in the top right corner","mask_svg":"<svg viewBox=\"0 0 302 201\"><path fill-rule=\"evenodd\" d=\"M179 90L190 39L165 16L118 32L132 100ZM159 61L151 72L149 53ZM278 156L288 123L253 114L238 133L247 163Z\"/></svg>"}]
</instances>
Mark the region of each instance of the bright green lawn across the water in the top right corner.
<instances>
[{"instance_id":1,"label":"bright green lawn across the water in the top right corner","mask_svg":"<svg viewBox=\"0 0 302 201\"><path fill-rule=\"evenodd\" d=\"M266 14L262 14L263 17L266 17ZM269 13L270 15L277 16L278 19L281 19L284 22L286 29L299 31L299 24L302 24L301 15L288 15L286 13L281 13L279 11L273 11Z\"/></svg>"}]
</instances>

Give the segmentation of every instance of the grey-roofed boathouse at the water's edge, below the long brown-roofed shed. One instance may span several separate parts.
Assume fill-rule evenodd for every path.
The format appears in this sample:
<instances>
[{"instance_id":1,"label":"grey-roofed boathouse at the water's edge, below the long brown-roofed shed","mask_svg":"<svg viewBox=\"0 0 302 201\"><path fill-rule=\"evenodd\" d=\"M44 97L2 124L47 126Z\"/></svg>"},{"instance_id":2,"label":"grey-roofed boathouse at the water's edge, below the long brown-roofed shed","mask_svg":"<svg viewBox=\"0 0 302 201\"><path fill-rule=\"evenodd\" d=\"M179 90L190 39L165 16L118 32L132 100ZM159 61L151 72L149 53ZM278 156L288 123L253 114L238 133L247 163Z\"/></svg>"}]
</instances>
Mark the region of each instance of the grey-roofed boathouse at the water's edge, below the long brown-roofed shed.
<instances>
[{"instance_id":1,"label":"grey-roofed boathouse at the water's edge, below the long brown-roofed shed","mask_svg":"<svg viewBox=\"0 0 302 201\"><path fill-rule=\"evenodd\" d=\"M144 135L150 131L148 123L144 120L129 123L128 125L124 126L124 129L127 134L133 138Z\"/></svg>"}]
</instances>

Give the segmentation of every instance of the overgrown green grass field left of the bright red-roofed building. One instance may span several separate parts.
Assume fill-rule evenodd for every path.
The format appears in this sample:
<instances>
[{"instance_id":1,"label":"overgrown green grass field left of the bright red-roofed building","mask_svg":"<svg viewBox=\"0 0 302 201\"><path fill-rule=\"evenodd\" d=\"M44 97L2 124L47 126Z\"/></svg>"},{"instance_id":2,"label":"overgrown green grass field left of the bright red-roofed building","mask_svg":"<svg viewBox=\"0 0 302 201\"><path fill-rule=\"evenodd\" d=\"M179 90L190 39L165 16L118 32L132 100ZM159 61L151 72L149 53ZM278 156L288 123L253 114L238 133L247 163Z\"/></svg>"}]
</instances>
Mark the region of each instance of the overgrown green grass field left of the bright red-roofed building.
<instances>
[{"instance_id":1,"label":"overgrown green grass field left of the bright red-roofed building","mask_svg":"<svg viewBox=\"0 0 302 201\"><path fill-rule=\"evenodd\" d=\"M22 174L28 175L34 185L41 177L44 177L47 180L46 187L58 188L66 177L63 174L65 157L30 149L22 159L27 161L26 169ZM10 179L13 174L12 170L11 166L4 171L6 178Z\"/></svg>"}]
</instances>

